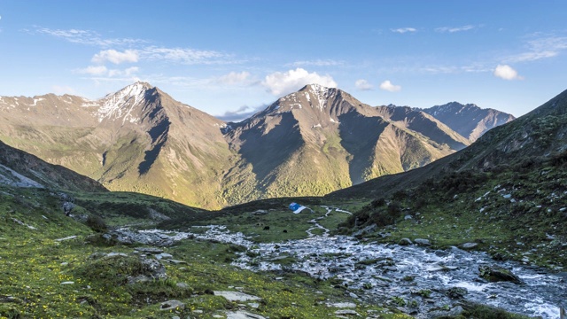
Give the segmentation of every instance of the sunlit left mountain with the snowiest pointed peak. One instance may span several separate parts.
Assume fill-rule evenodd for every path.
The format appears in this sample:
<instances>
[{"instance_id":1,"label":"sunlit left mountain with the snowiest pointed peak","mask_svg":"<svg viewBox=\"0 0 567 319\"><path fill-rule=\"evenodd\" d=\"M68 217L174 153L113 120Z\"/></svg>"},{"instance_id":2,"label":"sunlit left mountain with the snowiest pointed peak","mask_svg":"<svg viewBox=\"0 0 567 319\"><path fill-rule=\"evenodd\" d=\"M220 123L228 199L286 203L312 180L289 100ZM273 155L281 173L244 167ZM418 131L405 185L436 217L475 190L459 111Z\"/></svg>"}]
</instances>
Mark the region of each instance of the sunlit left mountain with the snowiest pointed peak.
<instances>
[{"instance_id":1,"label":"sunlit left mountain with the snowiest pointed peak","mask_svg":"<svg viewBox=\"0 0 567 319\"><path fill-rule=\"evenodd\" d=\"M113 191L220 206L222 121L137 82L96 101L3 97L0 139Z\"/></svg>"}]
</instances>

